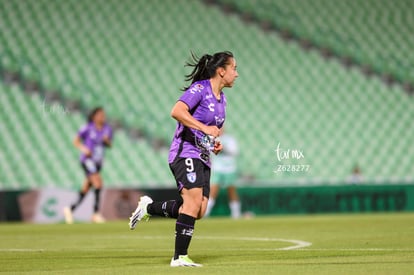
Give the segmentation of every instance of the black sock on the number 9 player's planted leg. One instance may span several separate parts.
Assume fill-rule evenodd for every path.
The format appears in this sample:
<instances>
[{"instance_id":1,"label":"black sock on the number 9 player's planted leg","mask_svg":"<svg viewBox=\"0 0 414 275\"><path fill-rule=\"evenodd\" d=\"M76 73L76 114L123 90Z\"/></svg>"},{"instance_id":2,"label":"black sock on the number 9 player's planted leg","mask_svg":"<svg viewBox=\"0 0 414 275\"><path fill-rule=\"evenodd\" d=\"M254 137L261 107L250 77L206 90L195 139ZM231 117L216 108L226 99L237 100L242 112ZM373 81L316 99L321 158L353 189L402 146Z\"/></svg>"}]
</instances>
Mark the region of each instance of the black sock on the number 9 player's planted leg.
<instances>
[{"instance_id":1,"label":"black sock on the number 9 player's planted leg","mask_svg":"<svg viewBox=\"0 0 414 275\"><path fill-rule=\"evenodd\" d=\"M175 253L174 260L180 255L187 255L188 246L194 232L195 218L180 214L175 224Z\"/></svg>"}]
</instances>

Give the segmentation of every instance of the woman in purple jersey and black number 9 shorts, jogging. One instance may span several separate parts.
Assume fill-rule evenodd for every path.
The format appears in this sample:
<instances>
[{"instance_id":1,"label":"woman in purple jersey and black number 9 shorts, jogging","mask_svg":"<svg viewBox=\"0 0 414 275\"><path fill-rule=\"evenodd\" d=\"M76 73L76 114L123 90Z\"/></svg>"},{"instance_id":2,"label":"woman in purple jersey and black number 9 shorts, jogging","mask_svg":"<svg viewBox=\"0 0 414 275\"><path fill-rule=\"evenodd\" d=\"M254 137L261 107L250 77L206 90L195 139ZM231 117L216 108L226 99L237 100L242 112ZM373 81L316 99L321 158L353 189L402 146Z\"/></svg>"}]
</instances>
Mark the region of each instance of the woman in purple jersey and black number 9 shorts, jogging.
<instances>
[{"instance_id":1,"label":"woman in purple jersey and black number 9 shorts, jogging","mask_svg":"<svg viewBox=\"0 0 414 275\"><path fill-rule=\"evenodd\" d=\"M148 196L140 198L130 217L129 226L147 221L151 215L177 219L175 224L175 253L171 266L201 266L187 255L196 219L204 216L210 194L210 152L218 154L222 145L217 138L224 124L226 98L222 89L233 87L238 77L236 60L231 52L193 55L194 67L187 75L191 81L174 105L171 116L177 128L170 147L168 162L182 200L153 202Z\"/></svg>"}]
</instances>

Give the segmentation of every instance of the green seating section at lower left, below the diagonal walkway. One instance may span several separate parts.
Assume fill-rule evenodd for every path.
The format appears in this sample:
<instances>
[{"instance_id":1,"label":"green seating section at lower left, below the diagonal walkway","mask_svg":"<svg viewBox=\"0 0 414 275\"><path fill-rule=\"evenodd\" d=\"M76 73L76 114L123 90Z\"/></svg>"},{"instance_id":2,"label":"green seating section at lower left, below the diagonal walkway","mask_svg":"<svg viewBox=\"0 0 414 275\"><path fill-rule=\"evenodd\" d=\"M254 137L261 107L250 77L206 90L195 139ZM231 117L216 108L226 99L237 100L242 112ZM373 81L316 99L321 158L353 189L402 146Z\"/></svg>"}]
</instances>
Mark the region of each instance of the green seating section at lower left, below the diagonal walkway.
<instances>
[{"instance_id":1,"label":"green seating section at lower left, below the diagonal walkway","mask_svg":"<svg viewBox=\"0 0 414 275\"><path fill-rule=\"evenodd\" d=\"M58 102L45 102L39 94L27 95L19 86L1 82L0 99L2 189L78 189L83 171L72 140L85 123L82 115L64 112ZM166 151L155 152L145 141L132 141L125 131L116 132L113 148L103 169L107 186L174 186Z\"/></svg>"}]
</instances>

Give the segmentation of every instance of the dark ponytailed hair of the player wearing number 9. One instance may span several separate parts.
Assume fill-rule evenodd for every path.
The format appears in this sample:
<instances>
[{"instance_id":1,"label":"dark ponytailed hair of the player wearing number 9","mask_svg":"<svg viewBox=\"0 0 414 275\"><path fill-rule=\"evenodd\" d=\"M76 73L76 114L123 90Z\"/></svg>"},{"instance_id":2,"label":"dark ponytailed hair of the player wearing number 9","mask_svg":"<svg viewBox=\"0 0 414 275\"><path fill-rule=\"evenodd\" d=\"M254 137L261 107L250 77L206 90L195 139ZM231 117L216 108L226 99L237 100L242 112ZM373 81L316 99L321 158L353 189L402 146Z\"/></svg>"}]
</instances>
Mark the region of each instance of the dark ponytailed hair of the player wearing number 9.
<instances>
[{"instance_id":1,"label":"dark ponytailed hair of the player wearing number 9","mask_svg":"<svg viewBox=\"0 0 414 275\"><path fill-rule=\"evenodd\" d=\"M218 52L213 55L205 54L198 58L191 52L191 61L185 65L194 67L193 71L185 76L185 81L191 81L193 84L196 81L205 80L213 77L217 68L224 68L229 64L229 59L233 57L233 53L229 51ZM191 84L183 88L183 91L190 88Z\"/></svg>"}]
</instances>

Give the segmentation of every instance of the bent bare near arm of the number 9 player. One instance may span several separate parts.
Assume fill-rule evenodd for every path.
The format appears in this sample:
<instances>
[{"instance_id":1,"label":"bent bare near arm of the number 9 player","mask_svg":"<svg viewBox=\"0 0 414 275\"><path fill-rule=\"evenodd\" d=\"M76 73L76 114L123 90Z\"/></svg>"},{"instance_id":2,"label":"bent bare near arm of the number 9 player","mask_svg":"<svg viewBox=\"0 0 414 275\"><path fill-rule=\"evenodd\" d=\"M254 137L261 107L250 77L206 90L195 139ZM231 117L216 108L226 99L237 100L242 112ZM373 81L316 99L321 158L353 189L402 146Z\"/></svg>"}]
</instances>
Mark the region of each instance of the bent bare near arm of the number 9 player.
<instances>
[{"instance_id":1,"label":"bent bare near arm of the number 9 player","mask_svg":"<svg viewBox=\"0 0 414 275\"><path fill-rule=\"evenodd\" d=\"M171 110L171 116L186 127L202 131L206 135L218 137L220 129L217 126L207 126L195 119L189 111L189 107L182 101L177 101Z\"/></svg>"}]
</instances>

